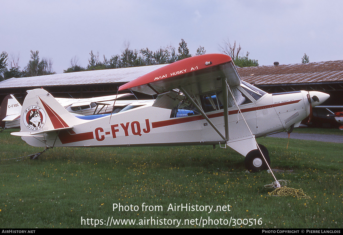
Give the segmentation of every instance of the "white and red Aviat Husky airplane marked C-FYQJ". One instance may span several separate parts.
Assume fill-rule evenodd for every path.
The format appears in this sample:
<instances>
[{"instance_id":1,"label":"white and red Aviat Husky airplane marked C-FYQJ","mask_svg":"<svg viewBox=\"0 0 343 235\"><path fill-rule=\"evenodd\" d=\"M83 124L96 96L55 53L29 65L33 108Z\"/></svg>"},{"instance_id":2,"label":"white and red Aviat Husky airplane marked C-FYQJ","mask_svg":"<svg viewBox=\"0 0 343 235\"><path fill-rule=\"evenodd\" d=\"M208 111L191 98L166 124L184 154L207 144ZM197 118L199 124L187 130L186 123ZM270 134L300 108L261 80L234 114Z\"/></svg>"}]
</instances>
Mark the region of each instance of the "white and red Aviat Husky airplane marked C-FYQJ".
<instances>
[{"instance_id":1,"label":"white and red Aviat Husky airplane marked C-FYQJ","mask_svg":"<svg viewBox=\"0 0 343 235\"><path fill-rule=\"evenodd\" d=\"M270 159L255 138L292 131L312 106L329 98L319 91L268 94L242 81L223 54L174 62L119 87L124 90L157 98L153 104L82 120L44 89L34 89L23 103L21 131L11 134L45 148L227 145L245 156L248 170L258 171Z\"/></svg>"}]
</instances>

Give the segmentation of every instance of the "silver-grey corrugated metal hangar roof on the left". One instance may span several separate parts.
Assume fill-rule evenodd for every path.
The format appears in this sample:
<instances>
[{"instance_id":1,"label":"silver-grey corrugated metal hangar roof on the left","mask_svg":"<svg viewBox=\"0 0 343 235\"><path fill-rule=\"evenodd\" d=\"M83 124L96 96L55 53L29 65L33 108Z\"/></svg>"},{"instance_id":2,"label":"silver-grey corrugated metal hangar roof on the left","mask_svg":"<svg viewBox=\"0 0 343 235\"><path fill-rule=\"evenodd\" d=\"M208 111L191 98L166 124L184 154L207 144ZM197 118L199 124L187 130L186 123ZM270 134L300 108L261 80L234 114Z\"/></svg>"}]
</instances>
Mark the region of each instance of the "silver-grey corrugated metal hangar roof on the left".
<instances>
[{"instance_id":1,"label":"silver-grey corrugated metal hangar roof on the left","mask_svg":"<svg viewBox=\"0 0 343 235\"><path fill-rule=\"evenodd\" d=\"M0 82L0 88L126 83L165 65L166 64L160 64L122 69L93 70L35 77L10 78Z\"/></svg>"}]
</instances>

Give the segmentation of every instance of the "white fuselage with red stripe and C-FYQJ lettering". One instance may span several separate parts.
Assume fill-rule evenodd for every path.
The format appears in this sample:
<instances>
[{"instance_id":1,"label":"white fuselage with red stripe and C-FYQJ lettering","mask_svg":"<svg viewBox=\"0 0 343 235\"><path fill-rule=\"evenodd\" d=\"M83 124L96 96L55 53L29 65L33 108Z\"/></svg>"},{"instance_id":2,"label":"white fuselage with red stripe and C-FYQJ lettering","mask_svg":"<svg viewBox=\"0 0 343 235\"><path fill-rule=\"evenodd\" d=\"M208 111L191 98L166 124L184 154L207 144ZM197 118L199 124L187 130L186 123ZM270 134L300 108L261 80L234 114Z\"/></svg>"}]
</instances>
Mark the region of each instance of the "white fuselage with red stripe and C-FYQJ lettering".
<instances>
[{"instance_id":1,"label":"white fuselage with red stripe and C-FYQJ lettering","mask_svg":"<svg viewBox=\"0 0 343 235\"><path fill-rule=\"evenodd\" d=\"M239 95L236 95L237 93ZM239 86L233 96L237 96L237 100L244 97L244 100L239 101L241 104L238 107L244 115L251 134L254 137L261 137L286 130L305 119L310 113L307 94L309 94L307 91L283 94L261 92L255 96L244 86ZM321 102L328 97L322 92L316 93L316 95L321 97ZM219 97L218 94L212 95L212 98L206 96L206 99L211 99L212 105L208 104L210 109L205 113L215 127L221 133L225 133L224 111L220 106ZM312 101L312 105L313 102L316 101ZM30 145L41 147L215 145L226 143L226 140L218 135L202 115L197 112L188 113L188 115L174 115L172 110L153 107L150 103L94 120L80 120L79 124L73 125L73 128L69 130L43 133L34 138L31 136L22 138ZM230 140L251 135L247 131L242 131L242 127L246 124L242 115L238 114L234 103L228 108L228 118Z\"/></svg>"}]
</instances>

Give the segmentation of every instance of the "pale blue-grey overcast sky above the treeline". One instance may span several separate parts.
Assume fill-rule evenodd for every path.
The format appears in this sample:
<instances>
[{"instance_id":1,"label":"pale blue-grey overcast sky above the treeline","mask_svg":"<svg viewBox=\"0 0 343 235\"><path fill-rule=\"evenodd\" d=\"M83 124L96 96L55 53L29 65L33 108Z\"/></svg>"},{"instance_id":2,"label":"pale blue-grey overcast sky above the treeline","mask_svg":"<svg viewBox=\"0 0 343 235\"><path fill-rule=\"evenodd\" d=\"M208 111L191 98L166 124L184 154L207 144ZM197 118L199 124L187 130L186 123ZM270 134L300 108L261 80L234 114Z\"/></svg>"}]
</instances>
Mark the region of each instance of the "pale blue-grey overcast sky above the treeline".
<instances>
[{"instance_id":1,"label":"pale blue-grey overcast sky above the treeline","mask_svg":"<svg viewBox=\"0 0 343 235\"><path fill-rule=\"evenodd\" d=\"M241 56L259 65L343 60L343 1L319 0L0 0L0 53L19 57L21 70L31 52L51 59L63 73L76 58L86 67L90 52L110 59L130 49L177 48L192 55L221 53L229 40Z\"/></svg>"}]
</instances>

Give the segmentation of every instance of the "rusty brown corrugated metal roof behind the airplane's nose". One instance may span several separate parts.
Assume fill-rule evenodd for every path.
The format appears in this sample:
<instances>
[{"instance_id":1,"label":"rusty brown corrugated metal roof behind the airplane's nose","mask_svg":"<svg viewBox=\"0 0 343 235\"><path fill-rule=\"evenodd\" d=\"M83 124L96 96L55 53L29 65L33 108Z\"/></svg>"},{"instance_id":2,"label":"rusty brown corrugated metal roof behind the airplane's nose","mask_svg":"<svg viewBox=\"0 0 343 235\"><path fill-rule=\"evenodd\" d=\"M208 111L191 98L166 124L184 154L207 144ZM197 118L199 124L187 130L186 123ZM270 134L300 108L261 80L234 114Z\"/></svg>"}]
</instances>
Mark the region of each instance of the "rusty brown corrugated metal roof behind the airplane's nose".
<instances>
[{"instance_id":1,"label":"rusty brown corrugated metal roof behind the airplane's nose","mask_svg":"<svg viewBox=\"0 0 343 235\"><path fill-rule=\"evenodd\" d=\"M343 61L239 68L244 81L256 84L342 82Z\"/></svg>"}]
</instances>

